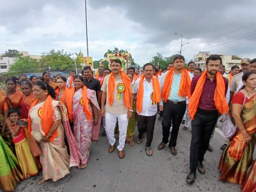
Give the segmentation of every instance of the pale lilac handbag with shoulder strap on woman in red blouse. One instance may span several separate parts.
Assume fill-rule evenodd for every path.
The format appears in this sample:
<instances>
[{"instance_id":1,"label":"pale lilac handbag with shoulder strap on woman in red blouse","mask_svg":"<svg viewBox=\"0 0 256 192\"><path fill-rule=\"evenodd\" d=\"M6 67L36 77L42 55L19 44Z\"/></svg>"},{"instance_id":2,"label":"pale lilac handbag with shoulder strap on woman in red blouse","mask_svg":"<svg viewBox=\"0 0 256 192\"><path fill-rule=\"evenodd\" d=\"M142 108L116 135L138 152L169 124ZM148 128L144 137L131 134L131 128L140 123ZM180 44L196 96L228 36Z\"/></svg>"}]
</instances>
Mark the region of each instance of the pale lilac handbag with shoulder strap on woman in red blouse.
<instances>
[{"instance_id":1,"label":"pale lilac handbag with shoulder strap on woman in red blouse","mask_svg":"<svg viewBox=\"0 0 256 192\"><path fill-rule=\"evenodd\" d=\"M241 91L241 92L243 93L243 91ZM243 100L243 107L244 107L246 96L244 93L243 93L243 95L244 95L244 100ZM237 126L232 123L231 117L227 117L225 119L225 121L221 124L221 129L223 131L223 135L227 138L233 137L233 135L236 132L236 128L237 128Z\"/></svg>"}]
</instances>

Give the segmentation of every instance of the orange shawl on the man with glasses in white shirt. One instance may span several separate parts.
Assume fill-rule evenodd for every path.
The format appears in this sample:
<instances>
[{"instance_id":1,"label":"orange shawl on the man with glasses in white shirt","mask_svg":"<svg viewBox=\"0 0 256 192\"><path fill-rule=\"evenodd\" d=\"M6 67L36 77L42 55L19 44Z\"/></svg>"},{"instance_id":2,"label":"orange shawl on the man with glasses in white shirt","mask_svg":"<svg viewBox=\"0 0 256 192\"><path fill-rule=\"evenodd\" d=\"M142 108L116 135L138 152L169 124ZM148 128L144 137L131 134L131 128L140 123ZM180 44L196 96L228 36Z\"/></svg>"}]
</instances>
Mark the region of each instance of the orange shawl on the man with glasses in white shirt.
<instances>
[{"instance_id":1,"label":"orange shawl on the man with glasses in white shirt","mask_svg":"<svg viewBox=\"0 0 256 192\"><path fill-rule=\"evenodd\" d=\"M138 110L139 114L141 113L142 103L143 103L144 77L145 77L144 75L141 75L141 80L139 82L137 100L136 100L136 109ZM160 83L159 83L158 79L154 76L152 76L152 87L153 87L153 101L156 102L156 103L160 103Z\"/></svg>"}]
</instances>

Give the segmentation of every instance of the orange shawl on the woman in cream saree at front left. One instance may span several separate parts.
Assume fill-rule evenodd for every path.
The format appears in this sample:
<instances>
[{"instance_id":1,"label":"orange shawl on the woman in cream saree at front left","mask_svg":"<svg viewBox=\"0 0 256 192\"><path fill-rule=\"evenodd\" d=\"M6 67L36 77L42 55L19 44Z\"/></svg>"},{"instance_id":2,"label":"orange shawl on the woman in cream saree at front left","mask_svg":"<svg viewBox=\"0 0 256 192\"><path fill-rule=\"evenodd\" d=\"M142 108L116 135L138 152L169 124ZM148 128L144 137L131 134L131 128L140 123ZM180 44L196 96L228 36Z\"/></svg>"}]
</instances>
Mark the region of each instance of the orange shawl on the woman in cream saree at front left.
<instances>
[{"instance_id":1,"label":"orange shawl on the woman in cream saree at front left","mask_svg":"<svg viewBox=\"0 0 256 192\"><path fill-rule=\"evenodd\" d=\"M34 107L39 102L39 99L35 99L35 101L30 106L29 110ZM52 98L50 95L47 96L43 106L42 106L42 113L41 113L41 127L43 129L44 135L47 135L51 126L53 124L53 108L52 108ZM31 137L31 118L28 114L28 132ZM51 136L50 141L52 142L56 136L58 136L58 131L56 130L54 134Z\"/></svg>"}]
</instances>

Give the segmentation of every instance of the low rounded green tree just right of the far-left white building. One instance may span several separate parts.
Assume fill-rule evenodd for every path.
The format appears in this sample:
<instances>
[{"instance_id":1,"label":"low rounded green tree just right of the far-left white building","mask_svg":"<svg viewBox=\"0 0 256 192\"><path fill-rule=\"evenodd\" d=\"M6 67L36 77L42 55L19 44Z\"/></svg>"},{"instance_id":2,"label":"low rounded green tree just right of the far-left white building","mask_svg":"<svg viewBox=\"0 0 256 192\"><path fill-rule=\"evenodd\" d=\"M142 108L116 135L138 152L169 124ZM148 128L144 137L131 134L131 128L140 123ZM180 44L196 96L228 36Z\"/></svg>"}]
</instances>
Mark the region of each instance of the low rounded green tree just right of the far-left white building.
<instances>
[{"instance_id":1,"label":"low rounded green tree just right of the far-left white building","mask_svg":"<svg viewBox=\"0 0 256 192\"><path fill-rule=\"evenodd\" d=\"M29 56L18 57L15 62L10 65L7 76L17 76L23 73L36 73L44 70L45 69L36 59L32 59Z\"/></svg>"}]
</instances>

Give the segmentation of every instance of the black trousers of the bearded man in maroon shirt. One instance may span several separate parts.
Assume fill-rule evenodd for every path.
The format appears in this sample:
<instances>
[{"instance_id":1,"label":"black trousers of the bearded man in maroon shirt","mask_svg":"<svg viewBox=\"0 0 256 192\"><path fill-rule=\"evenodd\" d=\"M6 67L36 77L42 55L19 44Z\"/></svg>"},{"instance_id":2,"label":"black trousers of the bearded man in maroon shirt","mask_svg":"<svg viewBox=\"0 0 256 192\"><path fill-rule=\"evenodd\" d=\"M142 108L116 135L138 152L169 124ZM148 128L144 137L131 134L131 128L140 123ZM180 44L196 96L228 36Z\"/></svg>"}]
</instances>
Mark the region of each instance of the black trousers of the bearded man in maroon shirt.
<instances>
[{"instance_id":1,"label":"black trousers of the bearded man in maroon shirt","mask_svg":"<svg viewBox=\"0 0 256 192\"><path fill-rule=\"evenodd\" d=\"M206 113L197 109L194 119L191 121L192 138L189 159L191 171L196 171L198 161L203 162L217 120L217 110Z\"/></svg>"}]
</instances>

